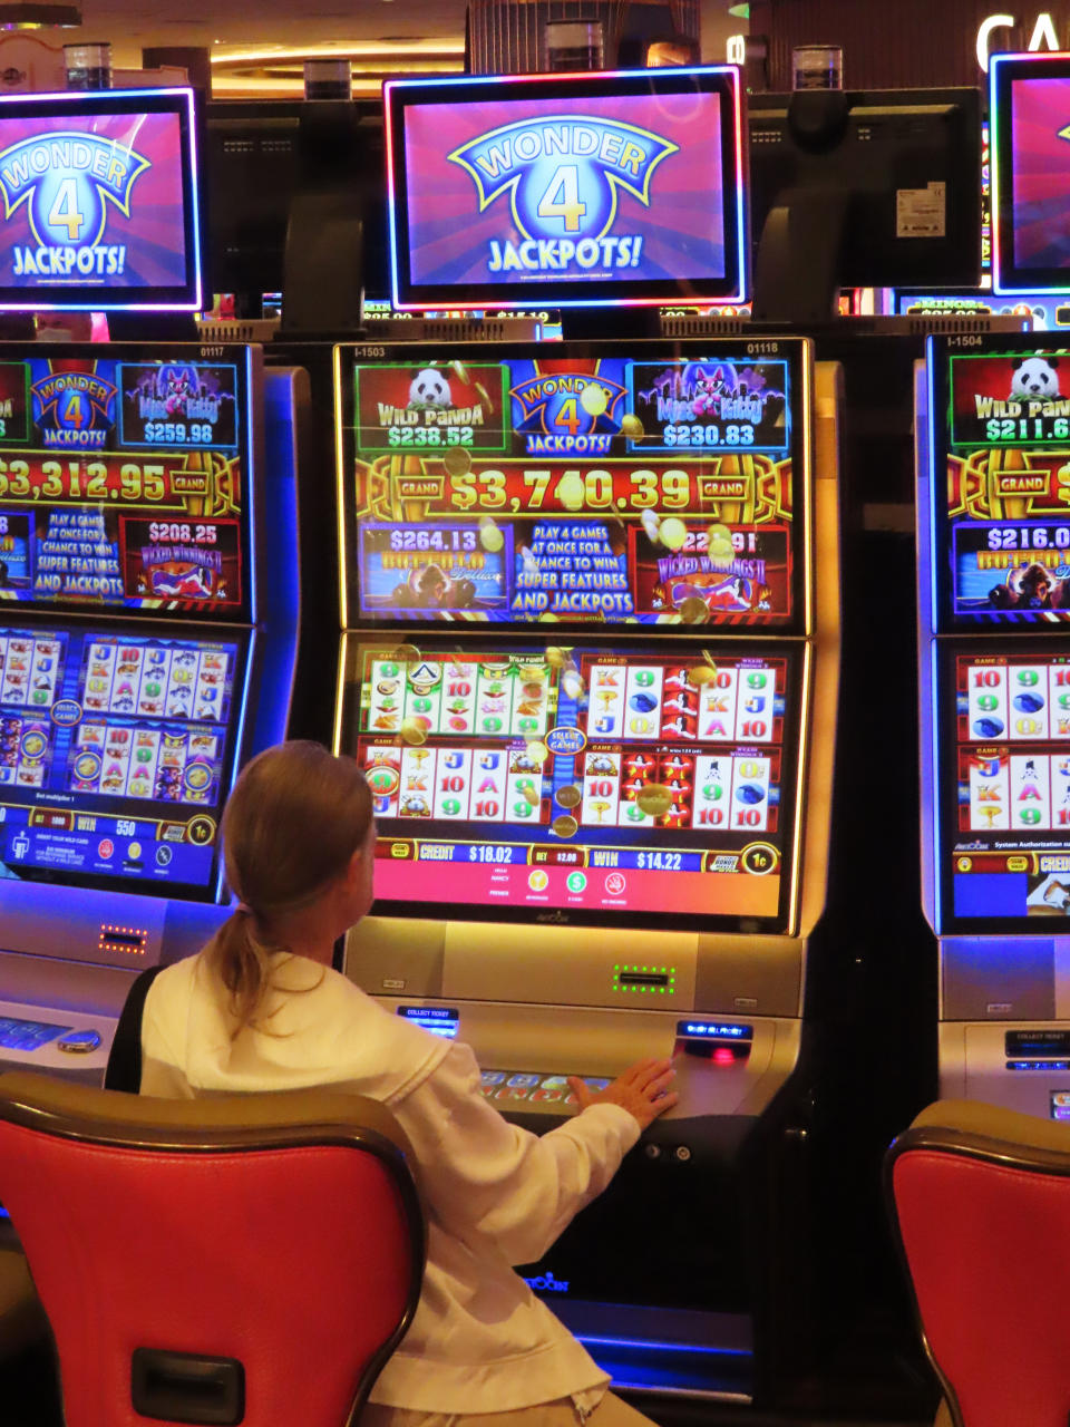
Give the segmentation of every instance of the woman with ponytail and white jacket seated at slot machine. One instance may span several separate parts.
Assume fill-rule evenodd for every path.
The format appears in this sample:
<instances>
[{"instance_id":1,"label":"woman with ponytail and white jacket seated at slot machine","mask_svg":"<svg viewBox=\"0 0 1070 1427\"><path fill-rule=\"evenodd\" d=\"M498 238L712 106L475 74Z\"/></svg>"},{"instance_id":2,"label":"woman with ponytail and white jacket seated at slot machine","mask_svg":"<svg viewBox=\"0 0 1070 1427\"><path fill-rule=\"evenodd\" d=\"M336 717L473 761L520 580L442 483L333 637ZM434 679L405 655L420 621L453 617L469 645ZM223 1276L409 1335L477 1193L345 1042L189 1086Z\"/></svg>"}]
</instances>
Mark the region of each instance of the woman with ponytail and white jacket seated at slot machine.
<instances>
[{"instance_id":1,"label":"woman with ponytail and white jacket seated at slot machine","mask_svg":"<svg viewBox=\"0 0 1070 1427\"><path fill-rule=\"evenodd\" d=\"M372 902L375 825L352 759L307 742L254 758L223 815L223 852L240 902L203 952L138 979L107 1085L171 1099L331 1085L389 1106L421 1167L428 1261L367 1427L491 1427L486 1414L651 1427L512 1264L539 1259L676 1103L672 1063L642 1060L598 1095L571 1080L579 1113L535 1136L484 1099L468 1046L332 970L335 940Z\"/></svg>"}]
</instances>

